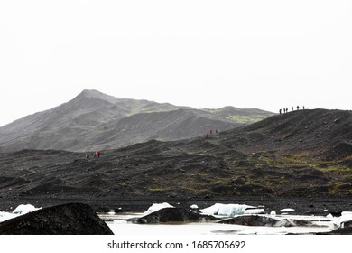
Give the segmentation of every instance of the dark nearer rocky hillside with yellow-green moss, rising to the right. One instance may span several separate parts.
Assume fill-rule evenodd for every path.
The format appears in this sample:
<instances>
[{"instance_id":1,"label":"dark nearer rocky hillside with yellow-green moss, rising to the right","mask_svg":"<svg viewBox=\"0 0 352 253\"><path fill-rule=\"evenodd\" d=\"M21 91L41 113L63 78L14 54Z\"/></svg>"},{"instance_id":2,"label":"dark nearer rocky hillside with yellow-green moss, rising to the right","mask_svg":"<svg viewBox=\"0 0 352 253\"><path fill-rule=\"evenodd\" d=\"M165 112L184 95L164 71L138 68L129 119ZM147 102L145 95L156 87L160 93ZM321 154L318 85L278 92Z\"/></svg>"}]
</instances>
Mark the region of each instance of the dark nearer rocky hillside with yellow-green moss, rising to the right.
<instances>
[{"instance_id":1,"label":"dark nearer rocky hillside with yellow-green moss, rising to the right","mask_svg":"<svg viewBox=\"0 0 352 253\"><path fill-rule=\"evenodd\" d=\"M325 215L328 205L339 211L351 207L351 111L300 110L208 137L150 140L103 150L100 158L84 155L0 154L0 205L79 200L112 208L123 202L132 207L150 201L280 200L282 208L301 204L304 213Z\"/></svg>"}]
</instances>

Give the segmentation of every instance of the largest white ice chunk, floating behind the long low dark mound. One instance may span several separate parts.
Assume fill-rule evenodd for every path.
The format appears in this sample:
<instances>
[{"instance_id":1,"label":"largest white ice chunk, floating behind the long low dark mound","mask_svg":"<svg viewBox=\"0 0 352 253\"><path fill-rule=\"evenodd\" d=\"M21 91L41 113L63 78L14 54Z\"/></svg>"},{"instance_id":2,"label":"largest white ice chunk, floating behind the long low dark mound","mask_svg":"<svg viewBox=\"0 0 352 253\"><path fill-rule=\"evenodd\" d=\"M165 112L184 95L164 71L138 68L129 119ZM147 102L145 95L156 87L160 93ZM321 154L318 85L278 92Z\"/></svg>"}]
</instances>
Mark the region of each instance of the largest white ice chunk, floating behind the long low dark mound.
<instances>
[{"instance_id":1,"label":"largest white ice chunk, floating behind the long low dark mound","mask_svg":"<svg viewBox=\"0 0 352 253\"><path fill-rule=\"evenodd\" d=\"M230 216L230 217L235 215L241 215L241 214L264 213L264 209L256 209L255 207L249 206L249 205L221 204L221 203L216 203L200 211L208 215L220 215L220 216Z\"/></svg>"}]
</instances>

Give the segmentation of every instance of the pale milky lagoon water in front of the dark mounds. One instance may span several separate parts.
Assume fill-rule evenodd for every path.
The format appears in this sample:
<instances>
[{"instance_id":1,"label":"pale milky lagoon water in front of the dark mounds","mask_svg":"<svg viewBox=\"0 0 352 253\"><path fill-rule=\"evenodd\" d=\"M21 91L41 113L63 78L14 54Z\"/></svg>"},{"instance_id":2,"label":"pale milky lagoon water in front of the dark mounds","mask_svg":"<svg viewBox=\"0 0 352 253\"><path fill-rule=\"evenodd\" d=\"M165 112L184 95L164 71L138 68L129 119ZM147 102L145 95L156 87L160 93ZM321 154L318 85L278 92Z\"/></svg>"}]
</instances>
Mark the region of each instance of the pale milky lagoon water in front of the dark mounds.
<instances>
[{"instance_id":1,"label":"pale milky lagoon water in front of the dark mounds","mask_svg":"<svg viewBox=\"0 0 352 253\"><path fill-rule=\"evenodd\" d=\"M310 227L252 227L211 222L171 222L167 224L133 224L126 221L141 217L144 213L100 214L115 235L283 235L329 232L333 228L333 218L323 216L277 215L277 219L310 220ZM269 216L269 215L267 215Z\"/></svg>"}]
</instances>

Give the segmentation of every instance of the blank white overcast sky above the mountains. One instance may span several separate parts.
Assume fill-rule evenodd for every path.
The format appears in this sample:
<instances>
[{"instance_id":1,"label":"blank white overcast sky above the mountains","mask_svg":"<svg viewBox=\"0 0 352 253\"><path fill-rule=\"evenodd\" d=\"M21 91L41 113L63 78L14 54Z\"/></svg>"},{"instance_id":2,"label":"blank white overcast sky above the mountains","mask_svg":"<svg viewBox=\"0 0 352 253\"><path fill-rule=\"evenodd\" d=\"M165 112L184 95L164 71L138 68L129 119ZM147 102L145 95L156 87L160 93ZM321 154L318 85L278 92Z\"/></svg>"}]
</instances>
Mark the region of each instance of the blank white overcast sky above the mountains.
<instances>
[{"instance_id":1,"label":"blank white overcast sky above the mountains","mask_svg":"<svg viewBox=\"0 0 352 253\"><path fill-rule=\"evenodd\" d=\"M352 109L352 1L0 0L0 126L83 89Z\"/></svg>"}]
</instances>

